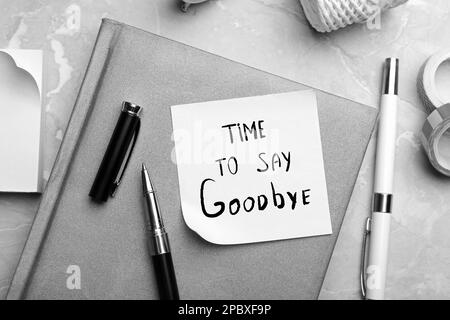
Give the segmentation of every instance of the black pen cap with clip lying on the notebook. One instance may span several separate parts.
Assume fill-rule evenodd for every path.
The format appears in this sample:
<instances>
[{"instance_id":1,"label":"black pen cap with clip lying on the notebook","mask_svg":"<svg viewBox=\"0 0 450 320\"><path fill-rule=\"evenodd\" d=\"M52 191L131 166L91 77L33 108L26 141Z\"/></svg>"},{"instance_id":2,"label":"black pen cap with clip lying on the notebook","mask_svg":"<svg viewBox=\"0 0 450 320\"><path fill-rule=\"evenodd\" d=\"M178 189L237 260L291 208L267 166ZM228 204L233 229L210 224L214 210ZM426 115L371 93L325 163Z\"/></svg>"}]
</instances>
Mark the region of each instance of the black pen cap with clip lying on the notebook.
<instances>
[{"instance_id":1,"label":"black pen cap with clip lying on the notebook","mask_svg":"<svg viewBox=\"0 0 450 320\"><path fill-rule=\"evenodd\" d=\"M142 108L136 104L122 104L119 119L89 192L92 200L106 202L115 195L137 141L141 111Z\"/></svg>"}]
</instances>

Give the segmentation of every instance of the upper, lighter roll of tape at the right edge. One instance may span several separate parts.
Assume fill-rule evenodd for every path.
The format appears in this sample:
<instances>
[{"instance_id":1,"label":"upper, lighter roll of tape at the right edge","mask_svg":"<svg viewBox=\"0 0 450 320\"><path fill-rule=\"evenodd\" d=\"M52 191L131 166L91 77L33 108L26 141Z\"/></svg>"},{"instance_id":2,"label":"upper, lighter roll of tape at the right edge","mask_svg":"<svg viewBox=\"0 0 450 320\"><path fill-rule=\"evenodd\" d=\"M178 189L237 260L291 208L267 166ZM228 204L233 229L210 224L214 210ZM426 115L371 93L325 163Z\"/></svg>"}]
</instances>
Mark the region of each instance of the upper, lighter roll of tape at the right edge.
<instances>
[{"instance_id":1,"label":"upper, lighter roll of tape at the right edge","mask_svg":"<svg viewBox=\"0 0 450 320\"><path fill-rule=\"evenodd\" d=\"M421 100L430 113L444 104L450 103L450 98L443 96L436 85L438 69L447 62L450 62L450 51L441 51L431 56L420 70L417 89Z\"/></svg>"}]
</instances>

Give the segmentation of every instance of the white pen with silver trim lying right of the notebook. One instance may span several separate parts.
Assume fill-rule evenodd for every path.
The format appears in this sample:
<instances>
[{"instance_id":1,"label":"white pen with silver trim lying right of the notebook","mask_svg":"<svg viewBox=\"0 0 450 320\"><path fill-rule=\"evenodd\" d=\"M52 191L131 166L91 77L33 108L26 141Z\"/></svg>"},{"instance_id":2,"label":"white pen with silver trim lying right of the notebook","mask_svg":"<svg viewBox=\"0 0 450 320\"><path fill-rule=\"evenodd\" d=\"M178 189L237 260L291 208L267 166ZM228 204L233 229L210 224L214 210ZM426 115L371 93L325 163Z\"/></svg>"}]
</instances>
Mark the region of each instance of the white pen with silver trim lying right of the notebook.
<instances>
[{"instance_id":1,"label":"white pen with silver trim lying right of the notebook","mask_svg":"<svg viewBox=\"0 0 450 320\"><path fill-rule=\"evenodd\" d=\"M367 300L383 300L386 287L397 137L398 69L398 59L386 59L378 123L372 216L366 222L361 268L361 289ZM369 251L366 258L367 239Z\"/></svg>"}]
</instances>

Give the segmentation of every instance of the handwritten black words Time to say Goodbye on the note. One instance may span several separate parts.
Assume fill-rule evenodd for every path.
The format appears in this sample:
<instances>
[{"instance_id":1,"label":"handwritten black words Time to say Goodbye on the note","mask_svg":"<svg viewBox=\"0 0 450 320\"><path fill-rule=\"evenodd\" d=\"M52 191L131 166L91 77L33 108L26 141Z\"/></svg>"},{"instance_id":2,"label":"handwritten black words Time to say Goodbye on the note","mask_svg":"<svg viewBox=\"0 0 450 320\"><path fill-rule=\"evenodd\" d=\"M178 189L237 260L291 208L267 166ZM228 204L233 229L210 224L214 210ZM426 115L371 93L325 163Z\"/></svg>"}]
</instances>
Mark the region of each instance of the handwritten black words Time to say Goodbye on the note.
<instances>
[{"instance_id":1,"label":"handwritten black words Time to say Goodbye on the note","mask_svg":"<svg viewBox=\"0 0 450 320\"><path fill-rule=\"evenodd\" d=\"M236 142L249 142L252 140L265 139L264 134L264 120L253 121L251 124L227 124L222 126L227 131L229 141L231 144ZM258 165L255 168L255 174L262 174L267 171L282 171L289 173L292 163L292 155L290 151L275 152L268 155L266 152L261 152L256 155ZM236 176L239 173L239 161L236 157L219 158L216 160L218 164L219 174L223 177L225 174ZM228 172L228 173L227 173ZM200 185L200 203L203 214L208 218L220 217L225 211L232 216L239 212L250 213L254 210L265 211L266 209L276 208L290 208L294 211L299 205L307 206L311 200L311 189L300 189L295 191L280 192L275 188L273 182L270 182L266 191L268 195L262 193L253 196L244 196L242 199L232 199L228 203L221 200L210 201L206 199L210 188L216 184L216 180L212 178L204 179Z\"/></svg>"}]
</instances>

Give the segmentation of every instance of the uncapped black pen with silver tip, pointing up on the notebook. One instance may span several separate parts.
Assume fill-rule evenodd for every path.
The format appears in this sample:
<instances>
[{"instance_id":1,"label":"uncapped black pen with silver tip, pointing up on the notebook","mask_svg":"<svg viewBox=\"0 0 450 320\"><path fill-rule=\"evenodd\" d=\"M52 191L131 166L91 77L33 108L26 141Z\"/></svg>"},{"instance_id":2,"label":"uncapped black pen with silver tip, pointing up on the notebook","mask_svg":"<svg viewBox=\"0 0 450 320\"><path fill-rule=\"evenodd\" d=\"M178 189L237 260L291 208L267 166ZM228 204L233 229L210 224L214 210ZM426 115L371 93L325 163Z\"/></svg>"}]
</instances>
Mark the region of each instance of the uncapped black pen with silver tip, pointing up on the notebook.
<instances>
[{"instance_id":1,"label":"uncapped black pen with silver tip, pointing up on the notebook","mask_svg":"<svg viewBox=\"0 0 450 320\"><path fill-rule=\"evenodd\" d=\"M149 245L158 283L159 297L161 300L179 300L169 237L164 229L155 190L145 164L142 164L142 185L150 225Z\"/></svg>"}]
</instances>

